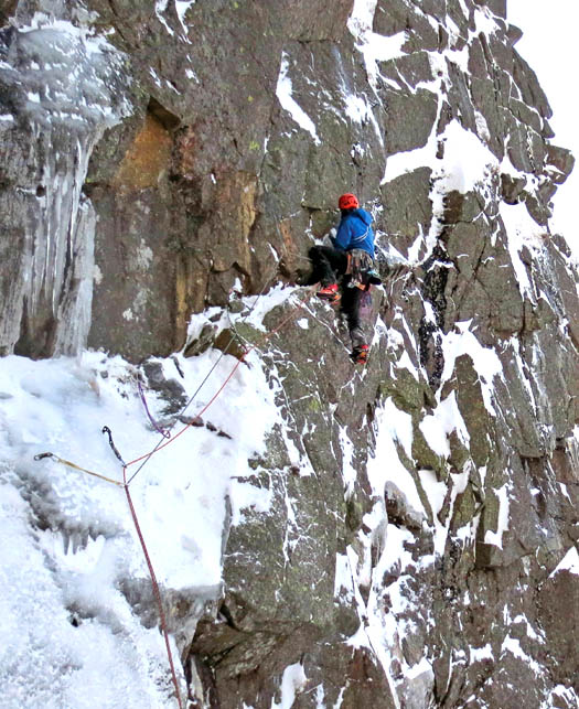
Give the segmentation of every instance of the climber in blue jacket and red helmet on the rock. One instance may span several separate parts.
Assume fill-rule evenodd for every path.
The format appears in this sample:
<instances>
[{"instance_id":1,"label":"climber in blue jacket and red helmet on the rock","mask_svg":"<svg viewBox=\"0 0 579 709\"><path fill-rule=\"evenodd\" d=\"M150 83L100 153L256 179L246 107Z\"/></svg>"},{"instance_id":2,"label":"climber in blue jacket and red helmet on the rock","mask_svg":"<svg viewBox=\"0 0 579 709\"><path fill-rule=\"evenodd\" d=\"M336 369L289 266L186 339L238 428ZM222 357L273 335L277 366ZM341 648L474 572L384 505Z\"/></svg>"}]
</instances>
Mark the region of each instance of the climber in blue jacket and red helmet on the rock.
<instances>
[{"instance_id":1,"label":"climber in blue jacket and red helmet on the rock","mask_svg":"<svg viewBox=\"0 0 579 709\"><path fill-rule=\"evenodd\" d=\"M312 273L309 282L321 283L319 298L331 303L341 301L352 339L351 358L355 364L366 364L368 344L360 307L371 286L382 282L374 267L372 215L361 210L356 196L350 193L340 197L337 206L342 219L335 237L330 237L333 246L312 246L310 249Z\"/></svg>"}]
</instances>

